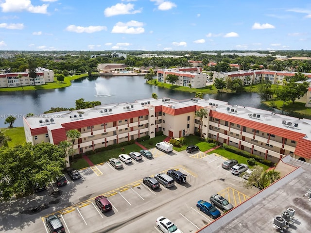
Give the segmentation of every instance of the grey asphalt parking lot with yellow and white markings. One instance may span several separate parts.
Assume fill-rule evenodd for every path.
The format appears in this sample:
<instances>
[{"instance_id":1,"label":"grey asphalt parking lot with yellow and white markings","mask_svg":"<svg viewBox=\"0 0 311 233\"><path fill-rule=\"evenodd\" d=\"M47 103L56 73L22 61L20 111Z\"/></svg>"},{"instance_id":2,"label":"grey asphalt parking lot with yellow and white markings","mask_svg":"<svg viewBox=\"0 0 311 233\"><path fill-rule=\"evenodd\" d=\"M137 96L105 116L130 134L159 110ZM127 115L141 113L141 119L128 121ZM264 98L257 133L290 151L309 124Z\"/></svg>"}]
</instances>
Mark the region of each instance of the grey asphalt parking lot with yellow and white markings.
<instances>
[{"instance_id":1,"label":"grey asphalt parking lot with yellow and white markings","mask_svg":"<svg viewBox=\"0 0 311 233\"><path fill-rule=\"evenodd\" d=\"M31 216L23 216L20 226L5 226L5 232L48 232L45 217L57 214L61 217L66 233L76 232L150 232L157 233L155 220L166 216L184 233L195 232L213 221L196 208L198 200L206 200L218 193L236 206L255 194L257 189L243 188L242 178L232 175L221 167L225 161L220 155L207 155L201 151L192 154L186 151L165 154L157 149L150 150L154 158L132 161L123 168L115 169L109 163L80 170L83 179L71 181L59 187L60 196L57 203L50 208ZM179 169L187 174L187 183L151 190L142 183L142 178ZM48 201L51 192L56 192L54 185L38 194L40 201ZM94 199L104 195L112 204L112 211L101 213ZM53 198L52 198L53 200ZM51 203L51 201L49 201ZM15 203L17 204L17 203ZM13 208L14 210L14 208ZM221 214L223 212L221 211ZM1 213L2 215L2 213ZM13 213L12 213L13 215ZM31 220L30 220L31 219ZM39 219L39 220L38 220ZM12 223L11 223L12 225Z\"/></svg>"}]
</instances>

